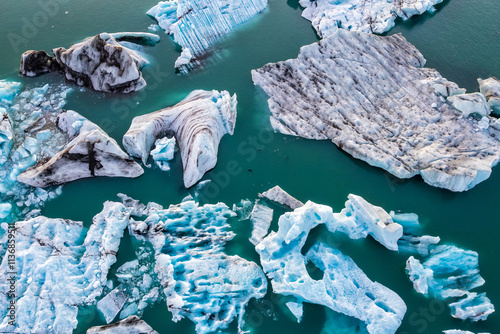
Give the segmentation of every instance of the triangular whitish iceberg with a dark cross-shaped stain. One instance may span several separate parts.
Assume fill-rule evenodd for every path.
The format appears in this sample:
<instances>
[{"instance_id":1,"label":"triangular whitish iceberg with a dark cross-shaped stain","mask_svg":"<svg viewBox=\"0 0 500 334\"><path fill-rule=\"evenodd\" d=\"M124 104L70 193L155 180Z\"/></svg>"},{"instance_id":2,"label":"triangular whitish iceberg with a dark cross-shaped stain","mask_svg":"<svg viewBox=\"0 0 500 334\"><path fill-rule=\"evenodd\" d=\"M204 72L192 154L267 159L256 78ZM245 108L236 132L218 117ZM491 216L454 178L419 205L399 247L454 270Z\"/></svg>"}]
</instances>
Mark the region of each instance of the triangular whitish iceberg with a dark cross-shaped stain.
<instances>
[{"instance_id":1,"label":"triangular whitish iceberg with a dark cross-shaped stain","mask_svg":"<svg viewBox=\"0 0 500 334\"><path fill-rule=\"evenodd\" d=\"M87 177L138 177L144 173L114 139L80 114L64 111L53 124L67 135L67 144L48 161L39 160L22 172L18 181L44 188Z\"/></svg>"}]
</instances>

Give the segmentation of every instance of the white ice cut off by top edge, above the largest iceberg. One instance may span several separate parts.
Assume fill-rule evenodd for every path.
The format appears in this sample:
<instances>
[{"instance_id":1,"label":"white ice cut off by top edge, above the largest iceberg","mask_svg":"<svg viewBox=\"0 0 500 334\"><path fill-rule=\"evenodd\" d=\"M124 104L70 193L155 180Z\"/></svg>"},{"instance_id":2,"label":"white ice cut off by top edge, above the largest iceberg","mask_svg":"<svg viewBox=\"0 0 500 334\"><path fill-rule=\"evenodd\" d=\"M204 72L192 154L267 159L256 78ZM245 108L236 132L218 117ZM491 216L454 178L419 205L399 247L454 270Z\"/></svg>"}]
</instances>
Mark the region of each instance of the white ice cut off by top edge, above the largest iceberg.
<instances>
[{"instance_id":1,"label":"white ice cut off by top edge, above the largest iceberg","mask_svg":"<svg viewBox=\"0 0 500 334\"><path fill-rule=\"evenodd\" d=\"M339 28L378 33L389 31L396 18L404 20L426 11L443 0L300 0L302 16L311 21L320 37L328 37Z\"/></svg>"}]
</instances>

